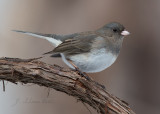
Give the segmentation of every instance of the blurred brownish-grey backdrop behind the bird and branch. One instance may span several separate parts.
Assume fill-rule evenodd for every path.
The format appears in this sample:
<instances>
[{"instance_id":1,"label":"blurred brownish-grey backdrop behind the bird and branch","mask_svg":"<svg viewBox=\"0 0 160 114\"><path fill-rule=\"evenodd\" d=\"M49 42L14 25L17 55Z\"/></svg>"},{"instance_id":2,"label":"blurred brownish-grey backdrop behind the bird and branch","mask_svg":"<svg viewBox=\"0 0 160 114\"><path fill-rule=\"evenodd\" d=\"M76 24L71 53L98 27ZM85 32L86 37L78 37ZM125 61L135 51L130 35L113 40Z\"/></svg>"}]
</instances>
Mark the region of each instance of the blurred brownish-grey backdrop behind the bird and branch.
<instances>
[{"instance_id":1,"label":"blurred brownish-grey backdrop behind the bird and branch","mask_svg":"<svg viewBox=\"0 0 160 114\"><path fill-rule=\"evenodd\" d=\"M131 35L118 60L89 74L137 114L160 114L160 0L0 0L0 57L32 58L53 49L42 39L12 29L71 34L118 21ZM42 61L67 67L61 59ZM0 114L89 114L64 93L32 84L0 82ZM93 114L96 112L89 107Z\"/></svg>"}]
</instances>

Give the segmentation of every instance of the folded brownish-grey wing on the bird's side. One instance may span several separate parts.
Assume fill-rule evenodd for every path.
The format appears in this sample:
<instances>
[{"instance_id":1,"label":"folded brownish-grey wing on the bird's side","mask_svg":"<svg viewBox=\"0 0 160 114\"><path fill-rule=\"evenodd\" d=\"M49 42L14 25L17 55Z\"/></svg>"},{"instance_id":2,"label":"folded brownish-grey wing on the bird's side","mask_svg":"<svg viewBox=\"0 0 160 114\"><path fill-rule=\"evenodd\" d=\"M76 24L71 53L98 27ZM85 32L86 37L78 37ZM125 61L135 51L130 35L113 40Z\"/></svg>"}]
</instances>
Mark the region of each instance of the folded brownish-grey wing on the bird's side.
<instances>
[{"instance_id":1,"label":"folded brownish-grey wing on the bird's side","mask_svg":"<svg viewBox=\"0 0 160 114\"><path fill-rule=\"evenodd\" d=\"M91 50L92 42L96 37L96 34L80 34L74 38L65 40L54 50L45 54L55 55L64 53L66 55L75 55L80 53L87 53Z\"/></svg>"}]
</instances>

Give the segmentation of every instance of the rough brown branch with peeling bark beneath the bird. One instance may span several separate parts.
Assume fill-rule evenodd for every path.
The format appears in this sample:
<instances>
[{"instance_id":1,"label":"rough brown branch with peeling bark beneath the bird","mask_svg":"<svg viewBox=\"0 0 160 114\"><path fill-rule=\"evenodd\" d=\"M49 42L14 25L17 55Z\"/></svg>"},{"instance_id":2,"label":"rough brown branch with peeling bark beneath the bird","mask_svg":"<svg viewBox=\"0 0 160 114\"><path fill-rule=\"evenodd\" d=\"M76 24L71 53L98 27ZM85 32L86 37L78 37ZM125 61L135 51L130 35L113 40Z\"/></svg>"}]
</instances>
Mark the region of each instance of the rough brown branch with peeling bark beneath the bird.
<instances>
[{"instance_id":1,"label":"rough brown branch with peeling bark beneath the bird","mask_svg":"<svg viewBox=\"0 0 160 114\"><path fill-rule=\"evenodd\" d=\"M34 83L55 89L89 104L101 114L135 114L124 101L76 71L35 59L0 58L0 79Z\"/></svg>"}]
</instances>

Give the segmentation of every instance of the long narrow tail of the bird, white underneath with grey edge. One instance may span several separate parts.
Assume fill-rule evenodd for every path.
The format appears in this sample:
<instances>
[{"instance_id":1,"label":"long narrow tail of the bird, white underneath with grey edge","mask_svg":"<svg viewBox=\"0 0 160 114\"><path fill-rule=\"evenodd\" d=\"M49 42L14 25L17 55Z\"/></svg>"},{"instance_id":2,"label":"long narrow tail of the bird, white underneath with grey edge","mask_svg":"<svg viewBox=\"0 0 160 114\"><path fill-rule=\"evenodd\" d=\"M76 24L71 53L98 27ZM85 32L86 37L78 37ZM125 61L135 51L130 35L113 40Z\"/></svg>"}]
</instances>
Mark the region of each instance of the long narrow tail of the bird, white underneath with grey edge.
<instances>
[{"instance_id":1,"label":"long narrow tail of the bird, white underneath with grey edge","mask_svg":"<svg viewBox=\"0 0 160 114\"><path fill-rule=\"evenodd\" d=\"M62 43L62 41L60 39L54 38L54 36L55 37L57 36L55 34L41 34L41 33L33 33L33 32L20 31L20 30L12 30L12 31L27 34L27 35L42 38L42 39L46 39L50 43L52 43L55 47L57 47L59 44Z\"/></svg>"}]
</instances>

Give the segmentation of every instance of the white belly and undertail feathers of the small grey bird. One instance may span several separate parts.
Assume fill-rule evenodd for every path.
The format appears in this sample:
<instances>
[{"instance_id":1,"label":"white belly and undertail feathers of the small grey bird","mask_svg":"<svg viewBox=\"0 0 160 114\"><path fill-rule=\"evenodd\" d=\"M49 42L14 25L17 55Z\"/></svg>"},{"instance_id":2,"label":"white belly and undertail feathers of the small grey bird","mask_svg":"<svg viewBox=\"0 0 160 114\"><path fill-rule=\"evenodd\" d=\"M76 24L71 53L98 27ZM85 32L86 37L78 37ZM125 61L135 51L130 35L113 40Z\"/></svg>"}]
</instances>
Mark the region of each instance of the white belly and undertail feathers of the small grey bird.
<instances>
[{"instance_id":1,"label":"white belly and undertail feathers of the small grey bird","mask_svg":"<svg viewBox=\"0 0 160 114\"><path fill-rule=\"evenodd\" d=\"M117 56L106 52L106 49L94 50L89 54L78 54L70 57L70 60L82 71L88 73L100 72L112 65ZM64 60L63 56L62 59ZM68 61L64 62L74 68Z\"/></svg>"}]
</instances>

